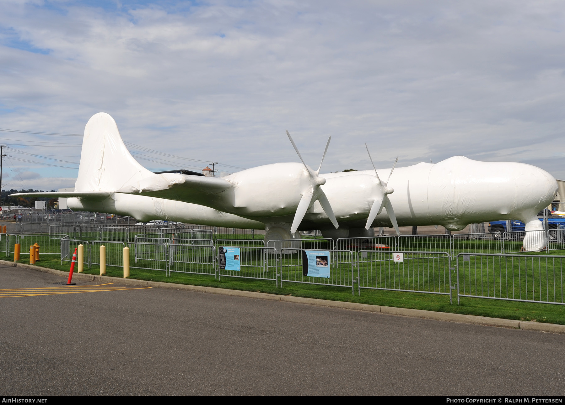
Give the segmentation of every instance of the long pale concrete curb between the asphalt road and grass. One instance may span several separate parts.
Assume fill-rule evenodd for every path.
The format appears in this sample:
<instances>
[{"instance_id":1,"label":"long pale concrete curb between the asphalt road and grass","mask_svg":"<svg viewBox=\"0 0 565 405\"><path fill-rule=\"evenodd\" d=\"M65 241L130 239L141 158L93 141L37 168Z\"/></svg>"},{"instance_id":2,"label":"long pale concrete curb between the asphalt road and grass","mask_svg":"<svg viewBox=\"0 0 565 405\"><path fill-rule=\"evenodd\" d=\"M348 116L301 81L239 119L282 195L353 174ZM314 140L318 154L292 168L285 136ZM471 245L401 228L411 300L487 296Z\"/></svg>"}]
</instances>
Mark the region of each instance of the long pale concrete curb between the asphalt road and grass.
<instances>
[{"instance_id":1,"label":"long pale concrete curb between the asphalt road and grass","mask_svg":"<svg viewBox=\"0 0 565 405\"><path fill-rule=\"evenodd\" d=\"M28 268L30 270L36 270L44 273L54 274L64 278L67 278L69 275L68 271L61 271L61 270L54 270L53 268L25 265L23 263L13 263L13 262L8 262L6 260L0 260L0 265ZM97 275L84 274L84 273L73 273L73 280L99 281L101 283L117 283L117 284L131 285L132 287L167 288L173 290L194 291L199 293L220 294L220 295L233 296L233 297L255 298L258 300L293 302L293 303L301 303L306 305L349 309L354 311L377 312L386 315L408 316L410 318L433 319L433 320L442 320L447 322L459 322L459 323L468 323L475 325L495 326L502 328L525 329L528 331L565 334L565 325L558 325L553 323L527 322L527 321L519 321L512 319L489 318L488 316L451 314L450 312L435 312L435 311L426 311L419 309L369 305L369 304L363 304L357 302L319 300L318 298L280 296L277 294L259 293L254 291L230 290L230 289L215 288L215 287L202 287L200 285L162 283L160 281L145 281L145 280L136 280L136 279L120 279L117 277L97 276Z\"/></svg>"}]
</instances>

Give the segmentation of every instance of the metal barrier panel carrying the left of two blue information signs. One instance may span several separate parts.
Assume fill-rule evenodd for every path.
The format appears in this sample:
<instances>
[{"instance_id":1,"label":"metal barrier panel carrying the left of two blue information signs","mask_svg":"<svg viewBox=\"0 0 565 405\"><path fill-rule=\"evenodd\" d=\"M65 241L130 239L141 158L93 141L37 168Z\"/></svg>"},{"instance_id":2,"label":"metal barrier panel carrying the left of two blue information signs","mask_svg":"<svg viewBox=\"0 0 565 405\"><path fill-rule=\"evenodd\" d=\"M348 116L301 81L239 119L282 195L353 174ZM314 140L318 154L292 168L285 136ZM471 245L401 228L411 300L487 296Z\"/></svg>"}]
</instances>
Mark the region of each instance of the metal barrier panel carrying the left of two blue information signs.
<instances>
[{"instance_id":1,"label":"metal barrier panel carrying the left of two blue information signs","mask_svg":"<svg viewBox=\"0 0 565 405\"><path fill-rule=\"evenodd\" d=\"M277 278L277 252L274 248L245 246L235 247L235 250L230 252L226 249L229 247L231 246L219 245L216 249L218 254L216 257L218 279L222 277L237 277L272 280L275 281L277 287L279 286ZM226 259L228 254L234 255L232 260ZM222 255L224 255L223 258ZM231 262L235 263L235 265L229 266Z\"/></svg>"}]
</instances>

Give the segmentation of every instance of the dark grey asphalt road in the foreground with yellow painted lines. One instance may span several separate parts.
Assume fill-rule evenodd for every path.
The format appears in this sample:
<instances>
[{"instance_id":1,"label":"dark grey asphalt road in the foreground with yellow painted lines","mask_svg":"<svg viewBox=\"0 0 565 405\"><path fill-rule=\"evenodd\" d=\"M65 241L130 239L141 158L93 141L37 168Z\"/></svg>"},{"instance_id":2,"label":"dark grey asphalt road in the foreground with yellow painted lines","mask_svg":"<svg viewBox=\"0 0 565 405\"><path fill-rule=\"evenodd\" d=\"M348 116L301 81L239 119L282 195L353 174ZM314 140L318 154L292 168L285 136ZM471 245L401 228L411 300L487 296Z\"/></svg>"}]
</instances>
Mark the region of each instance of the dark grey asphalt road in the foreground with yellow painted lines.
<instances>
[{"instance_id":1,"label":"dark grey asphalt road in the foreground with yellow painted lines","mask_svg":"<svg viewBox=\"0 0 565 405\"><path fill-rule=\"evenodd\" d=\"M62 281L0 267L0 289ZM0 307L0 395L565 391L559 334L158 288L0 298Z\"/></svg>"}]
</instances>

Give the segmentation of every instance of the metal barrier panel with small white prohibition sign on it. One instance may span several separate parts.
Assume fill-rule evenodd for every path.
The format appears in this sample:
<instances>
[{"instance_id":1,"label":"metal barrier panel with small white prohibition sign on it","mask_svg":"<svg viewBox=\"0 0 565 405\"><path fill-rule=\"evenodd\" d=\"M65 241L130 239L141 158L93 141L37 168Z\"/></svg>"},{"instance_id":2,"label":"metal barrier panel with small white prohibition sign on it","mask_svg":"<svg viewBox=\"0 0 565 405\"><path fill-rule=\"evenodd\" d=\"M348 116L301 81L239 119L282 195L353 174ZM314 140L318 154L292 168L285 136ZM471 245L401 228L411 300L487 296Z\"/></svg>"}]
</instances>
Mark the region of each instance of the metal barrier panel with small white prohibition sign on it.
<instances>
[{"instance_id":1,"label":"metal barrier panel with small white prohibition sign on it","mask_svg":"<svg viewBox=\"0 0 565 405\"><path fill-rule=\"evenodd\" d=\"M448 295L451 302L450 255L447 252L379 252L360 250L360 289Z\"/></svg>"}]
</instances>

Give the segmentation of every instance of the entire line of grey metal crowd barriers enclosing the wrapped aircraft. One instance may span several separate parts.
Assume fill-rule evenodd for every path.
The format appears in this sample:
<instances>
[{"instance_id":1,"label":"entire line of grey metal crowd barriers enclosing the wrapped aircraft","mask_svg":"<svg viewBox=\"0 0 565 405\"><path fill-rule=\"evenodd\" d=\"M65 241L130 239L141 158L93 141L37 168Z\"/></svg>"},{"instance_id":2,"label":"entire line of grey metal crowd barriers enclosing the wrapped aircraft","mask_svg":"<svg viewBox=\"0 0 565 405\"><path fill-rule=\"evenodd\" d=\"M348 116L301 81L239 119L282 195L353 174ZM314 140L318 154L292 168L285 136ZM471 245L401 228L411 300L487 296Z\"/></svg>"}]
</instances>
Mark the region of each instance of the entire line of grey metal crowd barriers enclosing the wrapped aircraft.
<instances>
[{"instance_id":1,"label":"entire line of grey metal crowd barriers enclosing the wrapped aircraft","mask_svg":"<svg viewBox=\"0 0 565 405\"><path fill-rule=\"evenodd\" d=\"M88 231L86 228L82 232ZM540 234L540 231L536 232ZM42 254L60 253L63 263L70 261L74 248L82 244L85 246L85 265L90 267L99 265L99 247L103 244L106 246L106 265L123 267L123 248L128 245L131 268L165 271L166 275L178 272L217 275L218 278L271 280L275 281L277 287L279 280L281 287L284 282L332 285L351 288L352 293L355 283L358 283L358 294L361 289L397 290L449 295L450 301L451 289L457 288L458 303L460 297L472 297L563 304L565 256L478 251L497 250L501 244L503 248L513 246L506 243L521 244L523 241L515 236L516 233L520 232L510 233L506 235L506 239L504 236L501 239L492 236L489 238L490 235L486 233L454 235L451 240L456 252L474 249L472 252L458 252L454 263L457 266L457 284L454 285L450 270L455 269L450 269L449 251L385 250L385 246L378 246L381 243L376 243L383 241L381 237L337 241L338 246L368 247L356 249L355 252L334 249L333 241L325 239L285 241L290 244L300 243L301 247L281 245L277 249L275 246L263 246L262 239L216 240L215 243L210 239L175 239L175 243L172 243L172 240L163 235L136 237L135 242L124 243L71 239L66 234L0 234L0 248L5 248L8 255L14 253L14 244L20 243L21 254L25 255L28 254L27 246L37 243L41 246ZM210 235L210 232L205 234ZM429 235L414 236L426 238ZM398 240L402 241L407 237ZM394 237L386 238L389 243L385 245L392 245ZM424 243L428 241L429 239L423 240ZM280 241L269 243L272 242L276 244ZM220 259L220 248L228 247L233 248L231 252L234 254L234 261L238 262L238 268L226 266L226 259ZM223 253L227 253L227 250ZM319 265L322 270L325 268L325 271L310 272L312 254L316 266ZM402 257L395 259L398 254Z\"/></svg>"}]
</instances>

